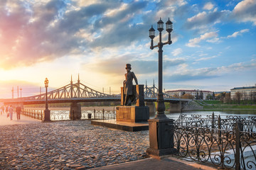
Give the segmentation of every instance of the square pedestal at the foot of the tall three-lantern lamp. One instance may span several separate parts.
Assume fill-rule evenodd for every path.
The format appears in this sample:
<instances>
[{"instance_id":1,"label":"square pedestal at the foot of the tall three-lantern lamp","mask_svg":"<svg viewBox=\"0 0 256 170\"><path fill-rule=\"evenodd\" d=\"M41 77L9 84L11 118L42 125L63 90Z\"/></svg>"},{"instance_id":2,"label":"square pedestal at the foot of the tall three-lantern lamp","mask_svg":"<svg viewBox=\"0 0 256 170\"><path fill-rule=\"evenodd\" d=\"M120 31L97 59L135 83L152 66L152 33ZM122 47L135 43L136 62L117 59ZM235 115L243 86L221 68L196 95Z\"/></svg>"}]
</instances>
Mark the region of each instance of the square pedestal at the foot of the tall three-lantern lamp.
<instances>
[{"instance_id":1,"label":"square pedestal at the foot of the tall three-lantern lamp","mask_svg":"<svg viewBox=\"0 0 256 170\"><path fill-rule=\"evenodd\" d=\"M161 157L175 154L174 149L174 120L150 119L149 120L149 149L146 152L150 157Z\"/></svg>"}]
</instances>

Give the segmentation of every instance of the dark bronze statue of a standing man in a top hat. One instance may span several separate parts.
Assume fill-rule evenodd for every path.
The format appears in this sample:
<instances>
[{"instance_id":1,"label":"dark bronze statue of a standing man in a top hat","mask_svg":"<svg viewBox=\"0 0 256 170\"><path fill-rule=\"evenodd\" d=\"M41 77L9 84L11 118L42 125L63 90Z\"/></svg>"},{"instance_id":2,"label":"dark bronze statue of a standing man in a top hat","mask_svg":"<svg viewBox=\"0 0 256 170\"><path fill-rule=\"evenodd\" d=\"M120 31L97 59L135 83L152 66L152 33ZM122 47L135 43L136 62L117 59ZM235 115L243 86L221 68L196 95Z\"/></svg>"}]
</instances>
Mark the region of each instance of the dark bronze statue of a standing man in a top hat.
<instances>
[{"instance_id":1,"label":"dark bronze statue of a standing man in a top hat","mask_svg":"<svg viewBox=\"0 0 256 170\"><path fill-rule=\"evenodd\" d=\"M135 101L135 94L132 90L132 80L134 79L135 83L138 84L137 78L134 74L134 72L131 72L131 64L126 64L127 73L124 74L125 80L124 80L124 105L125 106L131 106L132 102Z\"/></svg>"}]
</instances>

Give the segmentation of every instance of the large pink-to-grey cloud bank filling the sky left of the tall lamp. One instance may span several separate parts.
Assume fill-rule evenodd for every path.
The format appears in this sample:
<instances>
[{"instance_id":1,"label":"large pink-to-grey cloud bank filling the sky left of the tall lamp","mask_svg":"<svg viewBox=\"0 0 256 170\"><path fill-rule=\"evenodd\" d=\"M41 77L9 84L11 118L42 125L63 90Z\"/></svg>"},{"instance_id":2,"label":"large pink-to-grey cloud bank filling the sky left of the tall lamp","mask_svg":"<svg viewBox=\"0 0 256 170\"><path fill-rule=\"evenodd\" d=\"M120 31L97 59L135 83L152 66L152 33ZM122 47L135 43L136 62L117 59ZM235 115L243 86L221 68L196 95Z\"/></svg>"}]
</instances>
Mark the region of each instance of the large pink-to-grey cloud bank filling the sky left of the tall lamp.
<instances>
[{"instance_id":1,"label":"large pink-to-grey cloud bank filling the sky left of the tall lamp","mask_svg":"<svg viewBox=\"0 0 256 170\"><path fill-rule=\"evenodd\" d=\"M148 36L144 30L149 26L143 20L150 13L139 24L127 26L146 5L146 1L1 1L0 67L11 69L97 47L130 45Z\"/></svg>"}]
</instances>

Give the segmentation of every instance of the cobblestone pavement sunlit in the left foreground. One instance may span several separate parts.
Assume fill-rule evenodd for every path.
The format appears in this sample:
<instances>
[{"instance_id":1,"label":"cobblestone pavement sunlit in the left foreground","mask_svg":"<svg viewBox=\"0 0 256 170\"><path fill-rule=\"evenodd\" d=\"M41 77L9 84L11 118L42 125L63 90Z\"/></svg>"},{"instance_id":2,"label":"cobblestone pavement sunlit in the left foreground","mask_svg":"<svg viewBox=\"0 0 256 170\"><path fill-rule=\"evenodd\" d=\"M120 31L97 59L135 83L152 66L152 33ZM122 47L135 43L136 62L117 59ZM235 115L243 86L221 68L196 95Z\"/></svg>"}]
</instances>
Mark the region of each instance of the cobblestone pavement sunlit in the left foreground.
<instances>
[{"instance_id":1,"label":"cobblestone pavement sunlit in the left foreground","mask_svg":"<svg viewBox=\"0 0 256 170\"><path fill-rule=\"evenodd\" d=\"M90 169L146 157L149 132L63 121L0 126L0 169Z\"/></svg>"}]
</instances>

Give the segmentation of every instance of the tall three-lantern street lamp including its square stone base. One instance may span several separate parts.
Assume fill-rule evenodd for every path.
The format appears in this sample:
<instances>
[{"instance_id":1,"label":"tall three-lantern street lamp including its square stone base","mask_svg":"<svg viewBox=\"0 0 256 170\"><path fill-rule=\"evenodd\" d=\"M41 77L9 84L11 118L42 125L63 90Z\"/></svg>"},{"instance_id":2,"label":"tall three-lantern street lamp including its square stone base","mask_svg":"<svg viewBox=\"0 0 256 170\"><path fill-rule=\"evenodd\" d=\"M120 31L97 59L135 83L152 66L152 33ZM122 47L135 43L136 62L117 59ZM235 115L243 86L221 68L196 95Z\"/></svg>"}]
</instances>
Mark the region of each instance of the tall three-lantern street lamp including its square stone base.
<instances>
[{"instance_id":1,"label":"tall three-lantern street lamp including its square stone base","mask_svg":"<svg viewBox=\"0 0 256 170\"><path fill-rule=\"evenodd\" d=\"M171 45L171 31L173 30L170 19L166 22L166 31L169 33L168 41L162 42L161 32L164 30L164 22L157 22L159 30L159 43L154 45L155 30L153 26L149 29L149 38L151 38L150 49L159 47L159 91L157 95L156 117L149 119L149 148L146 152L150 157L161 157L167 154L174 154L177 150L174 148L174 120L169 119L164 114L164 95L163 95L163 46Z\"/></svg>"}]
</instances>

